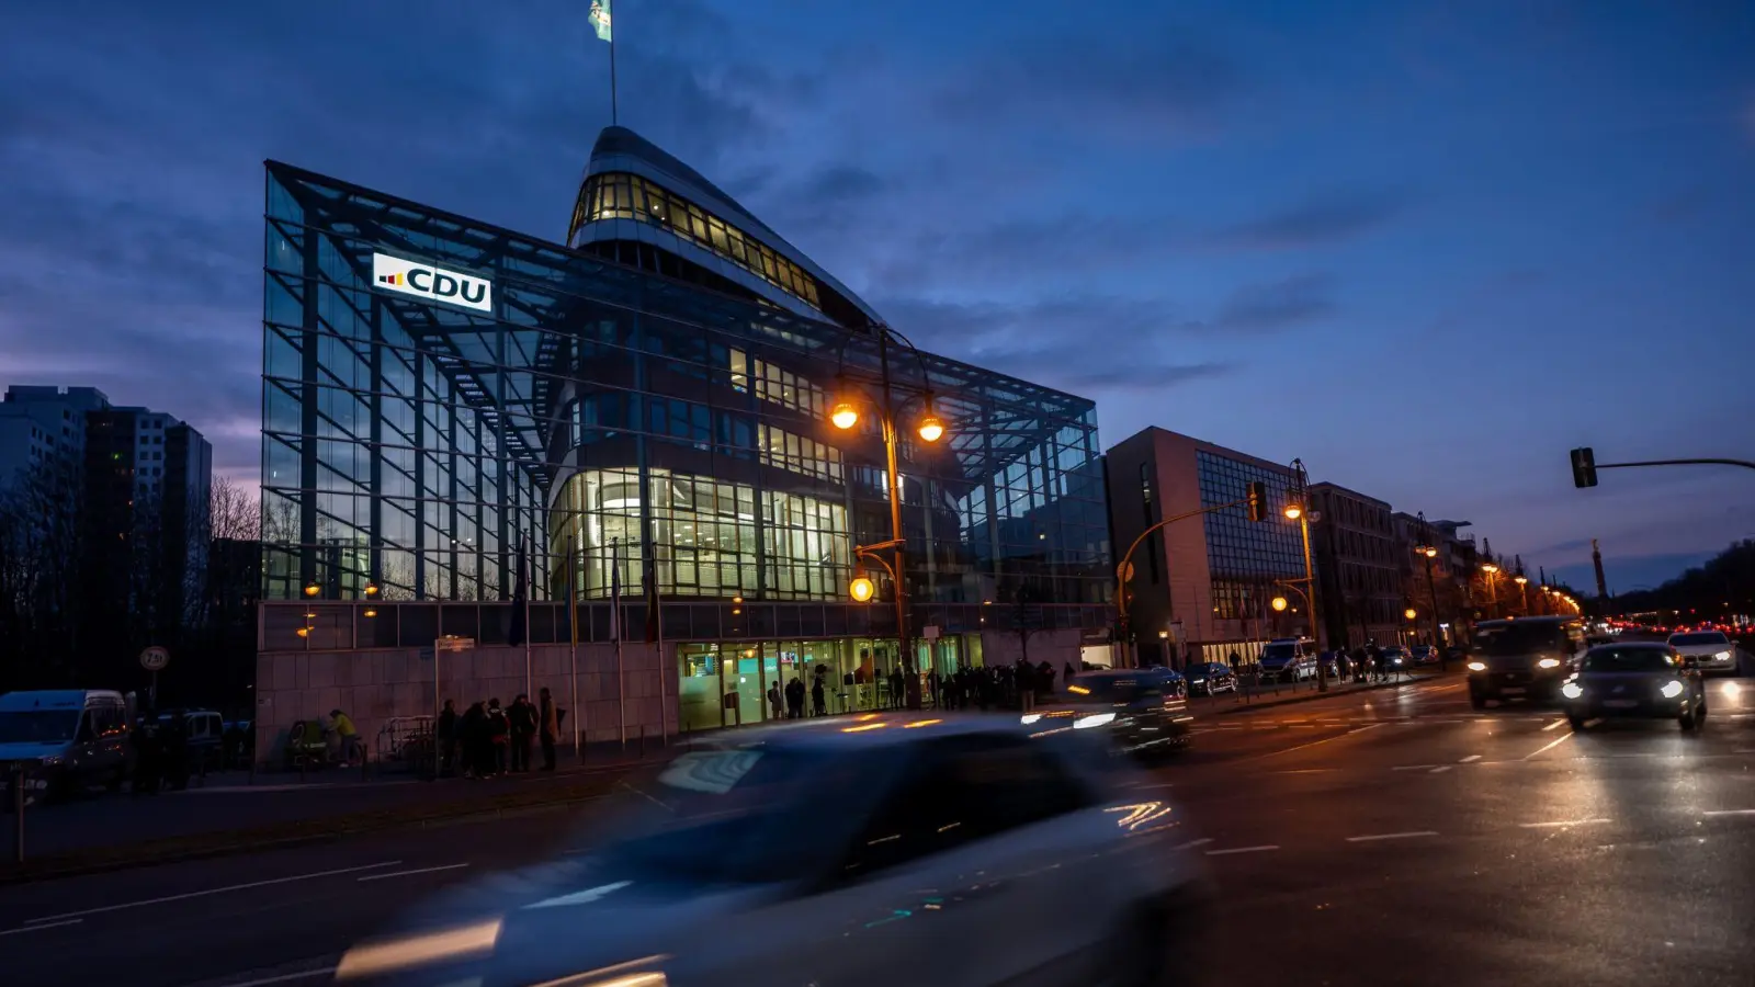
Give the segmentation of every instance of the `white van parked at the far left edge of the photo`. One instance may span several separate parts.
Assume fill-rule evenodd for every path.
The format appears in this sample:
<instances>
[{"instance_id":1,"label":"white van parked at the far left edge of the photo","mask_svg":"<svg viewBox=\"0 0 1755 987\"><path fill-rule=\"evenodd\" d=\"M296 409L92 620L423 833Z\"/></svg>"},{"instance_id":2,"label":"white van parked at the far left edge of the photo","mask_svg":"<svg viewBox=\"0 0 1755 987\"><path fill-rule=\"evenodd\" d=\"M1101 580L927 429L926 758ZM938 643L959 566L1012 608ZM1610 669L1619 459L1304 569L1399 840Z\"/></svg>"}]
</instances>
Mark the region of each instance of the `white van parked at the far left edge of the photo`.
<instances>
[{"instance_id":1,"label":"white van parked at the far left edge of the photo","mask_svg":"<svg viewBox=\"0 0 1755 987\"><path fill-rule=\"evenodd\" d=\"M60 688L0 695L0 771L5 808L16 803L14 766L25 767L28 801L91 785L121 789L130 773L130 711L121 692Z\"/></svg>"}]
</instances>

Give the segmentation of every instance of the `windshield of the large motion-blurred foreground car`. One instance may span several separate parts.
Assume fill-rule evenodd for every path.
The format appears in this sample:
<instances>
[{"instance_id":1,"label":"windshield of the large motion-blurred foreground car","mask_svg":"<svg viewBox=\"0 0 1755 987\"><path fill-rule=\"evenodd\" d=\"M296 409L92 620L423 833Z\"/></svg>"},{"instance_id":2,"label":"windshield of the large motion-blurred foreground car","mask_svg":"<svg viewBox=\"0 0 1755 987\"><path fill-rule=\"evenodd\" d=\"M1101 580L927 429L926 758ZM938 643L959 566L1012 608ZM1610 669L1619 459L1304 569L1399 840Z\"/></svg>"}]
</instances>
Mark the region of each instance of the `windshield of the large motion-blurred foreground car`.
<instances>
[{"instance_id":1,"label":"windshield of the large motion-blurred foreground car","mask_svg":"<svg viewBox=\"0 0 1755 987\"><path fill-rule=\"evenodd\" d=\"M662 824L641 825L604 857L644 882L741 885L797 876L839 850L839 831L825 824L821 808L858 806L860 792L883 773L878 760L784 746L683 753L646 789L665 810L655 817Z\"/></svg>"}]
</instances>

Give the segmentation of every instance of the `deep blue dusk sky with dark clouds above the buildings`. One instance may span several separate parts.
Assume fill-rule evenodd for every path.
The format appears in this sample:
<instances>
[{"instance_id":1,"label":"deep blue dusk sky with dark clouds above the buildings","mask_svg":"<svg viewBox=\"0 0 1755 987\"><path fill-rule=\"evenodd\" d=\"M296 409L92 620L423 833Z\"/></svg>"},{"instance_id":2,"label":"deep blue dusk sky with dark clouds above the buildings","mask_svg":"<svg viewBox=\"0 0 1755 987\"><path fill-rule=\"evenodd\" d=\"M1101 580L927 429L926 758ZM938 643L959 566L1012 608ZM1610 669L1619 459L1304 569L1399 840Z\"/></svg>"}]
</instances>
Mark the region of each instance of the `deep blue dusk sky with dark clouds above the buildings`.
<instances>
[{"instance_id":1,"label":"deep blue dusk sky with dark clouds above the buildings","mask_svg":"<svg viewBox=\"0 0 1755 987\"><path fill-rule=\"evenodd\" d=\"M560 237L584 0L61 0L0 33L0 383L253 478L261 160ZM618 0L623 123L923 346L1630 588L1755 532L1746 2Z\"/></svg>"}]
</instances>

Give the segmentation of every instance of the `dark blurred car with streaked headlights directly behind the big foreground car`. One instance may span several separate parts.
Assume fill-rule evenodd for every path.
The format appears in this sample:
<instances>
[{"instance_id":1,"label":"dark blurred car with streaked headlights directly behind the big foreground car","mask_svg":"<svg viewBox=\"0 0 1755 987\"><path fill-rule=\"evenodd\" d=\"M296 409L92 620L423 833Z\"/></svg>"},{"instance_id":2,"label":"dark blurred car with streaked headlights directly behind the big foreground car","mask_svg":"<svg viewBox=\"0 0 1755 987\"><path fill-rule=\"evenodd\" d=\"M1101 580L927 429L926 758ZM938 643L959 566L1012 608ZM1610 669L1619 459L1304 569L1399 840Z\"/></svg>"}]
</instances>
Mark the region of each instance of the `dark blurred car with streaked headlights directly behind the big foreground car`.
<instances>
[{"instance_id":1,"label":"dark blurred car with streaked headlights directly behind the big foreground car","mask_svg":"<svg viewBox=\"0 0 1755 987\"><path fill-rule=\"evenodd\" d=\"M1023 725L1032 731L1062 724L1100 731L1092 736L1100 736L1116 752L1150 755L1188 746L1193 717L1183 676L1176 669L1144 667L1072 676L1053 702L1023 715Z\"/></svg>"}]
</instances>

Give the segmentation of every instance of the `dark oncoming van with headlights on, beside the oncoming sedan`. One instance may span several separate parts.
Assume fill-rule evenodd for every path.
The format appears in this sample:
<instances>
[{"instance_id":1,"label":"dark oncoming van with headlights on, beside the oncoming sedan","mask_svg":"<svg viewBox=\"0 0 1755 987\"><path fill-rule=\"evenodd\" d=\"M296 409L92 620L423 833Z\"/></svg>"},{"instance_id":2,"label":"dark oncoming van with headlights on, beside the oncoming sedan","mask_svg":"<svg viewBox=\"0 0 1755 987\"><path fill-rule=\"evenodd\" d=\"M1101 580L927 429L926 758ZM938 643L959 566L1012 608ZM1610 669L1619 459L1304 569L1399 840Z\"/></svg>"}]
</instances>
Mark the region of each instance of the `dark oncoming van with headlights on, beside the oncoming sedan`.
<instances>
[{"instance_id":1,"label":"dark oncoming van with headlights on, beside the oncoming sedan","mask_svg":"<svg viewBox=\"0 0 1755 987\"><path fill-rule=\"evenodd\" d=\"M1572 673L1585 650L1585 622L1578 616L1513 616L1474 625L1469 660L1469 702L1529 699L1553 702L1560 680Z\"/></svg>"}]
</instances>

